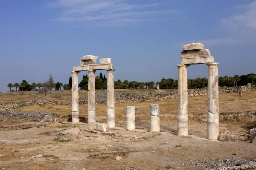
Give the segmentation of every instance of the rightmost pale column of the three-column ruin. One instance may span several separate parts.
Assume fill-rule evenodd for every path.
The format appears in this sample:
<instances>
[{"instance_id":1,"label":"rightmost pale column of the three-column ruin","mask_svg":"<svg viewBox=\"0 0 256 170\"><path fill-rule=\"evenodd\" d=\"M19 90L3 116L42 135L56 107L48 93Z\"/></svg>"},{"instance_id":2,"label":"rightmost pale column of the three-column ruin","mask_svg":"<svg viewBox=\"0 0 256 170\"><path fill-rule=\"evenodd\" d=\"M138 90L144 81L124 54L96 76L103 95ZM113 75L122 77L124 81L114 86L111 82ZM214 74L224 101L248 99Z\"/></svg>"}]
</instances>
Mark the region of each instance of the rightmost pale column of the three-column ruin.
<instances>
[{"instance_id":1,"label":"rightmost pale column of the three-column ruin","mask_svg":"<svg viewBox=\"0 0 256 170\"><path fill-rule=\"evenodd\" d=\"M107 124L109 127L115 127L115 86L114 86L115 69L107 69L108 72L108 94L107 94Z\"/></svg>"}]
</instances>

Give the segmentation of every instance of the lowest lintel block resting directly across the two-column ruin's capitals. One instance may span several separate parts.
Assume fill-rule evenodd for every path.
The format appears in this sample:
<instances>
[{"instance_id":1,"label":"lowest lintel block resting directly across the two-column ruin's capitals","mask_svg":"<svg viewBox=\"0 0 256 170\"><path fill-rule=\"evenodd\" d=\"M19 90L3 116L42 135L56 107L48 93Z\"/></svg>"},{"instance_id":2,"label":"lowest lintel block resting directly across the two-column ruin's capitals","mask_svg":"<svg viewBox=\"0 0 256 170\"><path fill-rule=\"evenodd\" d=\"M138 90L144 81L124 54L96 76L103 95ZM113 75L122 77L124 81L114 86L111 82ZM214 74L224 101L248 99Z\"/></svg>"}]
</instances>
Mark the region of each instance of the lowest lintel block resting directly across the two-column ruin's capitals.
<instances>
[{"instance_id":1,"label":"lowest lintel block resting directly across the two-column ruin's capitals","mask_svg":"<svg viewBox=\"0 0 256 170\"><path fill-rule=\"evenodd\" d=\"M214 62L214 57L208 56L208 57L189 57L189 58L183 58L181 60L181 64L207 64L210 62Z\"/></svg>"}]
</instances>

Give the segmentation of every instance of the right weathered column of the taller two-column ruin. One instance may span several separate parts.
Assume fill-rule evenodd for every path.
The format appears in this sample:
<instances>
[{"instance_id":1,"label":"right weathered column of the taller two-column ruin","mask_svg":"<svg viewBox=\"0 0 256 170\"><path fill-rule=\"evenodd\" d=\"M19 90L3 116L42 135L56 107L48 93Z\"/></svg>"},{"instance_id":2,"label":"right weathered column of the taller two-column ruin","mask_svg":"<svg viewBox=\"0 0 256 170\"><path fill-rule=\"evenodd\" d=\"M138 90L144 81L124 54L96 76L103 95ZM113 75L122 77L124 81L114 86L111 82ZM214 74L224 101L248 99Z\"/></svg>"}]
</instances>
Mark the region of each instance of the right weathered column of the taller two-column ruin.
<instances>
[{"instance_id":1,"label":"right weathered column of the taller two-column ruin","mask_svg":"<svg viewBox=\"0 0 256 170\"><path fill-rule=\"evenodd\" d=\"M208 65L208 126L207 138L218 140L219 106L218 106L218 62Z\"/></svg>"}]
</instances>

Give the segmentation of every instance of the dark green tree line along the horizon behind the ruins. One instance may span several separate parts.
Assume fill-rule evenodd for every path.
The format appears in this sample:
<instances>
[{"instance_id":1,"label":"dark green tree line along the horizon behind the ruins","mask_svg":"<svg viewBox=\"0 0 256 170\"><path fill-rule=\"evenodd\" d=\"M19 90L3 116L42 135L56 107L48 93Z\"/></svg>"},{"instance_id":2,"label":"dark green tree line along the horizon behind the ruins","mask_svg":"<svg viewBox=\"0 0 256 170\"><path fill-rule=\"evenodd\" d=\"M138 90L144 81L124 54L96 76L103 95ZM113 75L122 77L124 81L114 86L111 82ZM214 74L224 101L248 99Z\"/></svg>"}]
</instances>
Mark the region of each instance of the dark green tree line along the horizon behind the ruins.
<instances>
[{"instance_id":1,"label":"dark green tree line along the horizon behind the ruins","mask_svg":"<svg viewBox=\"0 0 256 170\"><path fill-rule=\"evenodd\" d=\"M253 80L256 79L256 74L250 73L247 75L234 75L233 77L219 77L219 86L227 86L227 87L236 87L236 86L243 86L247 85L247 83L251 83L253 85ZM89 77L86 74L83 76L82 81L79 83L79 88L88 90L88 82L89 82ZM124 80L123 82L118 79L115 83L115 89L152 89L155 88L156 85L159 85L160 89L175 89L178 87L178 80L177 79L161 79L160 82L136 82L136 81L131 81L129 82L127 79ZM195 79L188 79L188 88L205 88L208 85L208 79L206 77L203 78L195 78ZM10 88L10 91L12 88L19 88L19 91L38 91L36 89L37 87L39 88L39 91L41 88L44 88L44 91L51 91L53 88L55 90L61 90L63 87L64 90L70 90L72 88L72 77L69 77L68 84L63 84L61 82L54 83L54 80L52 78L52 75L50 75L49 79L46 82L39 82L35 83L33 82L32 84L29 84L26 82L26 80L23 80L21 83L9 83L7 85L8 88ZM107 88L107 78L105 75L103 76L102 73L99 74L99 76L95 77L95 89L106 89Z\"/></svg>"}]
</instances>

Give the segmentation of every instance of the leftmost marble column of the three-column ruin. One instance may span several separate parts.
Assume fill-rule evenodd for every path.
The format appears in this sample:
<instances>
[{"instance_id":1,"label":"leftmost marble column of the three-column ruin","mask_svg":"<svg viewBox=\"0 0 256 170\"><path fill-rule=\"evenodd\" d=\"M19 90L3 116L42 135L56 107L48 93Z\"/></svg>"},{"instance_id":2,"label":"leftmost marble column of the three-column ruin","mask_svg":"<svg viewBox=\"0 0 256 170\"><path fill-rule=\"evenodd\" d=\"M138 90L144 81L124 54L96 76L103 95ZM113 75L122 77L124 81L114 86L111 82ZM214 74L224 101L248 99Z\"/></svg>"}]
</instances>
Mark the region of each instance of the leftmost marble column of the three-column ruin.
<instances>
[{"instance_id":1,"label":"leftmost marble column of the three-column ruin","mask_svg":"<svg viewBox=\"0 0 256 170\"><path fill-rule=\"evenodd\" d=\"M72 71L72 122L79 122L79 93L78 93L79 71Z\"/></svg>"}]
</instances>

